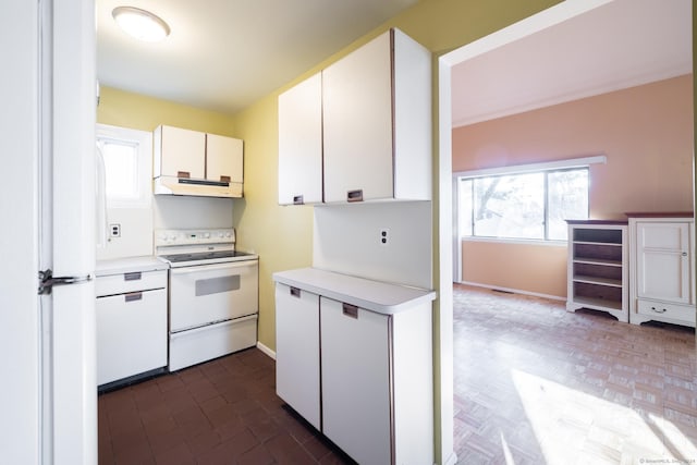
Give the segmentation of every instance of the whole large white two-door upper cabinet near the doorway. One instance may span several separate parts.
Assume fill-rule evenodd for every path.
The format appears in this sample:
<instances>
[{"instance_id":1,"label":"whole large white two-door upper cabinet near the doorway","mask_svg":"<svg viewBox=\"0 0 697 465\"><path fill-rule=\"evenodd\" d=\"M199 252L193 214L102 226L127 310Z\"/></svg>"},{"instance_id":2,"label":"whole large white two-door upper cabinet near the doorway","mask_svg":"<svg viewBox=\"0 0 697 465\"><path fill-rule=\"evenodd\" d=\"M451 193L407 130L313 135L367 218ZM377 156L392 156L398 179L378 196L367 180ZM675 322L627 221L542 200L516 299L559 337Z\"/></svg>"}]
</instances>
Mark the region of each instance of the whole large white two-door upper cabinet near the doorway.
<instances>
[{"instance_id":1,"label":"whole large white two-door upper cabinet near the doorway","mask_svg":"<svg viewBox=\"0 0 697 465\"><path fill-rule=\"evenodd\" d=\"M430 200L430 82L390 29L279 96L279 204Z\"/></svg>"}]
</instances>

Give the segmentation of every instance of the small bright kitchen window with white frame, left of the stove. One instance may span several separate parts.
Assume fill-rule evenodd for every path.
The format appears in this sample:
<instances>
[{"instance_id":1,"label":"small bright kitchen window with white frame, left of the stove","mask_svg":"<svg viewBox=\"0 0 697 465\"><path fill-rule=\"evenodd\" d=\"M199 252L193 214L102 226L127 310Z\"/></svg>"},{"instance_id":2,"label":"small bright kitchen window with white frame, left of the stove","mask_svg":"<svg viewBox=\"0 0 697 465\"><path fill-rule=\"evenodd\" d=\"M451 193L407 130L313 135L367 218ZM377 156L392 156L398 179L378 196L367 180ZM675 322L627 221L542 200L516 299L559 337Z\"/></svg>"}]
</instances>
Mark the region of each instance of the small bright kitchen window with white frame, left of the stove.
<instances>
[{"instance_id":1,"label":"small bright kitchen window with white frame, left of the stove","mask_svg":"<svg viewBox=\"0 0 697 465\"><path fill-rule=\"evenodd\" d=\"M97 125L109 207L150 205L151 135L144 131Z\"/></svg>"}]
</instances>

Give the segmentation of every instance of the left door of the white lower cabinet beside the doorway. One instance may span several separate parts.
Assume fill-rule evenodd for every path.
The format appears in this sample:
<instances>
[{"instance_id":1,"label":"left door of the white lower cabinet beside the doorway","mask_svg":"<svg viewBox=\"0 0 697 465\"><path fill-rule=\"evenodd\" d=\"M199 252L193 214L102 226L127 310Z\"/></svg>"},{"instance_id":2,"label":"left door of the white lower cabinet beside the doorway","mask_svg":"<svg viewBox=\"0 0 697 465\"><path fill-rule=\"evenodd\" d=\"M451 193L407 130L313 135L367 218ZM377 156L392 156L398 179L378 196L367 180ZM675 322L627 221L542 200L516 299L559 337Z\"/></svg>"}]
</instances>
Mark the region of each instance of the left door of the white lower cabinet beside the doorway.
<instances>
[{"instance_id":1,"label":"left door of the white lower cabinet beside the doorway","mask_svg":"<svg viewBox=\"0 0 697 465\"><path fill-rule=\"evenodd\" d=\"M319 296L277 283L276 327L276 391L321 430Z\"/></svg>"}]
</instances>

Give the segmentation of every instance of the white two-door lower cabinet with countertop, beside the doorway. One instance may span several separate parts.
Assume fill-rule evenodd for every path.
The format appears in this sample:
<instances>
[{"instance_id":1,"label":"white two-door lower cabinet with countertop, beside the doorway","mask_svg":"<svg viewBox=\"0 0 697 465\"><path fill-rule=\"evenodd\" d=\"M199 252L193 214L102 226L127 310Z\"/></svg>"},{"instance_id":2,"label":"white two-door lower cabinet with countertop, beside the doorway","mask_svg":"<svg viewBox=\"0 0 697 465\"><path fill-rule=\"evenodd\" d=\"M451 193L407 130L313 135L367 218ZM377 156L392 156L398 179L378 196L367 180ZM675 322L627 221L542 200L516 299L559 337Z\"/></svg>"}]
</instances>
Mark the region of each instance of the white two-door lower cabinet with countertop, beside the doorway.
<instances>
[{"instance_id":1,"label":"white two-door lower cabinet with countertop, beside the doorway","mask_svg":"<svg viewBox=\"0 0 697 465\"><path fill-rule=\"evenodd\" d=\"M316 269L274 280L279 396L360 464L432 464L435 293Z\"/></svg>"}]
</instances>

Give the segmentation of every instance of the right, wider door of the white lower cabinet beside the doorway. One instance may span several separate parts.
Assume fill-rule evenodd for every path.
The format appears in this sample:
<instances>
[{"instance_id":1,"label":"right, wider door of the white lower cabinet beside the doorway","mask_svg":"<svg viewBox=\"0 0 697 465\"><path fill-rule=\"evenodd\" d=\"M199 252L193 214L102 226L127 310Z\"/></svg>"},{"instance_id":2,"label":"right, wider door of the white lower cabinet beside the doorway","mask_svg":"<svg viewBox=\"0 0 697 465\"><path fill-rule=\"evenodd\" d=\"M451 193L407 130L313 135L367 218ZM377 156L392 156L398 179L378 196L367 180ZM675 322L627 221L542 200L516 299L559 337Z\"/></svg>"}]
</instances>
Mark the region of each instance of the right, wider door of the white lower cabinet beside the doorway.
<instances>
[{"instance_id":1,"label":"right, wider door of the white lower cabinet beside the doorway","mask_svg":"<svg viewBox=\"0 0 697 465\"><path fill-rule=\"evenodd\" d=\"M392 463L390 318L321 298L323 433L359 464Z\"/></svg>"}]
</instances>

